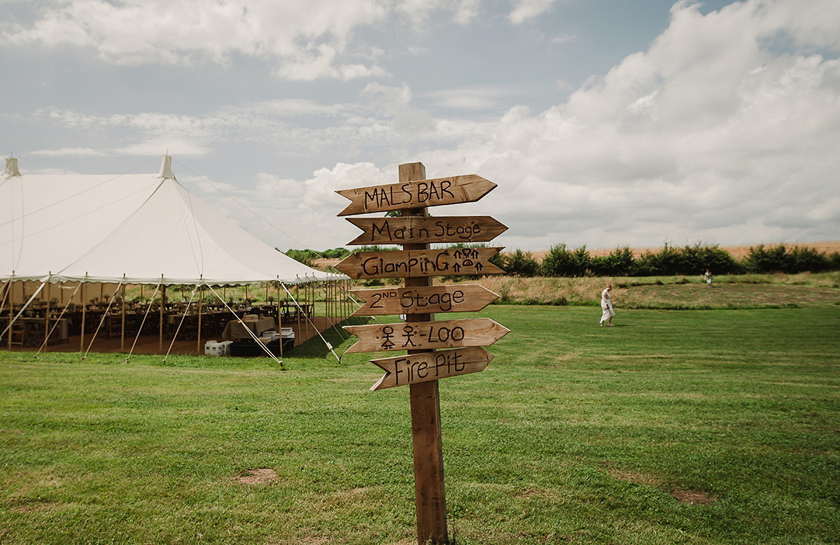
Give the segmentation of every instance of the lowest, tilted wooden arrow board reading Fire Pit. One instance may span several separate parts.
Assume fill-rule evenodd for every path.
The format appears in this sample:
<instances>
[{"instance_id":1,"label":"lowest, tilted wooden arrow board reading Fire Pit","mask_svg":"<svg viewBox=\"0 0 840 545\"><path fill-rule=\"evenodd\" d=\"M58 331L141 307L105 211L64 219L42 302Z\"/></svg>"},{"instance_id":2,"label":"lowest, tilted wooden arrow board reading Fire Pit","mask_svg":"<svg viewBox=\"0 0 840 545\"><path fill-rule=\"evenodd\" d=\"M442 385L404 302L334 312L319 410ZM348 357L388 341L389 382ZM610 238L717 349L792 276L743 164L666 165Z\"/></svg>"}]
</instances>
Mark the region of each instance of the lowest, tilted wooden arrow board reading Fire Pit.
<instances>
[{"instance_id":1,"label":"lowest, tilted wooden arrow board reading Fire Pit","mask_svg":"<svg viewBox=\"0 0 840 545\"><path fill-rule=\"evenodd\" d=\"M385 375L375 385L370 386L370 390L384 390L394 386L477 373L486 369L492 359L493 354L477 346L371 359L370 363L379 365L385 370Z\"/></svg>"}]
</instances>

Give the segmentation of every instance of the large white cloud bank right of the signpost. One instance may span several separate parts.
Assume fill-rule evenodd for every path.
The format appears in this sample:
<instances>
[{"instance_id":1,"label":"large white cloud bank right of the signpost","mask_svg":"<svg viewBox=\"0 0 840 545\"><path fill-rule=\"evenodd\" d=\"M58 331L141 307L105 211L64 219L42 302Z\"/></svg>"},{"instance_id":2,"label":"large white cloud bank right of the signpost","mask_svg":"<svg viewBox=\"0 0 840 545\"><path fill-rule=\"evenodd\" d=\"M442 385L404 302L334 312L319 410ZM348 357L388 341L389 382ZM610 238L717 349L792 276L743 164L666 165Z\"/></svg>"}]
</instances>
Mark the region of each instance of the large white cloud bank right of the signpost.
<instances>
[{"instance_id":1,"label":"large white cloud bank right of the signpost","mask_svg":"<svg viewBox=\"0 0 840 545\"><path fill-rule=\"evenodd\" d=\"M833 47L800 32L816 18L795 5L753 0L704 16L678 3L649 50L542 113L513 107L485 138L429 152L428 164L477 161L499 183L485 206L532 249L546 237L590 247L835 238L840 61L766 49L788 34L805 51Z\"/></svg>"}]
</instances>

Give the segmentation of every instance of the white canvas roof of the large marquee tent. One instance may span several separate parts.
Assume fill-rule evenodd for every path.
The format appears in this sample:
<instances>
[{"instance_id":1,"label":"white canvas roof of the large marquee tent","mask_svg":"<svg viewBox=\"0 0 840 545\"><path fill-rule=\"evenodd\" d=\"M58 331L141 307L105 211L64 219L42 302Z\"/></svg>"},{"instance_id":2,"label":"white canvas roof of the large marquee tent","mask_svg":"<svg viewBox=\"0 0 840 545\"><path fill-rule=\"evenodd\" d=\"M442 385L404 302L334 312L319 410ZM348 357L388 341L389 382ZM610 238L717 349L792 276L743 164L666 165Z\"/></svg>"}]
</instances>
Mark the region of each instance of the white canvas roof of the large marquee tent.
<instances>
[{"instance_id":1,"label":"white canvas roof of the large marquee tent","mask_svg":"<svg viewBox=\"0 0 840 545\"><path fill-rule=\"evenodd\" d=\"M7 161L8 162L8 161ZM0 178L0 279L129 284L330 280L157 174Z\"/></svg>"}]
</instances>

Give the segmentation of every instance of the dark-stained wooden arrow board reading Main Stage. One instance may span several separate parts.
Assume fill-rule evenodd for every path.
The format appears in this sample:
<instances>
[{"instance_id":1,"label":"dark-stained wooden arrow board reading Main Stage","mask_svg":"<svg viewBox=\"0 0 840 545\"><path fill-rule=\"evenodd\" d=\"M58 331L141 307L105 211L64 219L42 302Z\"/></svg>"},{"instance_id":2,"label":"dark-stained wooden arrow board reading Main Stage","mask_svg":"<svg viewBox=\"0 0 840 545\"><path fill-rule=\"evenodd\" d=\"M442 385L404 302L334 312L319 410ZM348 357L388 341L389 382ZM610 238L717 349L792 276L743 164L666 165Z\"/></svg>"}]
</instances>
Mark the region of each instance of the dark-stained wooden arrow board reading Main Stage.
<instances>
[{"instance_id":1,"label":"dark-stained wooden arrow board reading Main Stage","mask_svg":"<svg viewBox=\"0 0 840 545\"><path fill-rule=\"evenodd\" d=\"M490 216L348 217L365 233L347 244L449 244L487 242L507 231Z\"/></svg>"}]
</instances>

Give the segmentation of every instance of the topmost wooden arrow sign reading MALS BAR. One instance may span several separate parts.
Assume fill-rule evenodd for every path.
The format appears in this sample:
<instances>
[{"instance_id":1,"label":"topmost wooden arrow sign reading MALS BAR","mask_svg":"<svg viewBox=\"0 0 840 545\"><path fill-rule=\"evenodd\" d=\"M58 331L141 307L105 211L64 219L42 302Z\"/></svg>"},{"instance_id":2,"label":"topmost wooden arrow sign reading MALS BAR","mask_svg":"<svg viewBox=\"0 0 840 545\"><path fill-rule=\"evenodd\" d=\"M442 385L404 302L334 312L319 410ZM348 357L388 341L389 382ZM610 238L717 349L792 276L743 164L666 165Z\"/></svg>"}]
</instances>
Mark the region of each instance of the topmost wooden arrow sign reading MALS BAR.
<instances>
[{"instance_id":1,"label":"topmost wooden arrow sign reading MALS BAR","mask_svg":"<svg viewBox=\"0 0 840 545\"><path fill-rule=\"evenodd\" d=\"M355 187L336 191L349 198L350 204L339 216L387 212L402 208L434 207L441 204L475 202L496 187L492 181L475 174L407 181L384 186Z\"/></svg>"}]
</instances>

